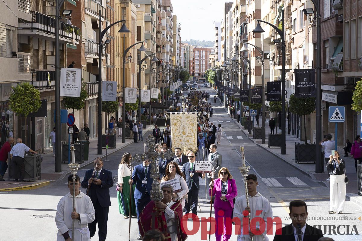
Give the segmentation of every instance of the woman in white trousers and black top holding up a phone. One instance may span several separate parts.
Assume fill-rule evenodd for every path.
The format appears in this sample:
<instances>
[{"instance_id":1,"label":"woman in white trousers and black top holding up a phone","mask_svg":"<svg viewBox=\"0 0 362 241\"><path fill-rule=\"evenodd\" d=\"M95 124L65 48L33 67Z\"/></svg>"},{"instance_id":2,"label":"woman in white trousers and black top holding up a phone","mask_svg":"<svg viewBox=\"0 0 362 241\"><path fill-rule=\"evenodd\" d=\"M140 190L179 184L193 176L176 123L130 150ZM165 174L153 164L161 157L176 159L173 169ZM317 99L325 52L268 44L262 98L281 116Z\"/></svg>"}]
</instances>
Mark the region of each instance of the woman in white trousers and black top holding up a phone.
<instances>
[{"instance_id":1,"label":"woman in white trousers and black top holding up a phone","mask_svg":"<svg viewBox=\"0 0 362 241\"><path fill-rule=\"evenodd\" d=\"M340 159L338 151L334 152L334 156L329 156L329 162L327 163L329 168L329 191L330 191L330 202L329 202L329 213L342 214L344 204L346 201L346 183L344 168L346 164Z\"/></svg>"}]
</instances>

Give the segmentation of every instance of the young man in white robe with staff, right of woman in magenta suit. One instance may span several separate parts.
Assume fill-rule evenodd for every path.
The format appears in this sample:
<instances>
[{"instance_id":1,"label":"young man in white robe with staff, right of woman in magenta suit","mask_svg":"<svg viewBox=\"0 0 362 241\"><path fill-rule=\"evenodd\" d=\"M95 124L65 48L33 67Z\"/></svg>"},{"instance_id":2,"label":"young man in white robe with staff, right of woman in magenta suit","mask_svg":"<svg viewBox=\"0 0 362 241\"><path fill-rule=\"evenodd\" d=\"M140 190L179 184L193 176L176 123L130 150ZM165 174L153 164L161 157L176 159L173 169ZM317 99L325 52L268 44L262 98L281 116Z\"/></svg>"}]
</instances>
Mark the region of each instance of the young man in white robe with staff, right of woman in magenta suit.
<instances>
[{"instance_id":1,"label":"young man in white robe with staff, right of woman in magenta suit","mask_svg":"<svg viewBox=\"0 0 362 241\"><path fill-rule=\"evenodd\" d=\"M234 204L233 218L239 218L241 221L241 230L240 234L237 236L237 241L250 241L251 237L253 237L253 241L268 241L269 238L266 237L266 234L268 233L266 228L268 226L267 218L273 218L273 211L271 210L270 202L256 191L258 179L255 174L249 174L247 176L247 184L249 193L249 207L247 206L246 195L237 198ZM256 215L256 213L259 215ZM250 214L251 219L255 217L263 219L265 222L265 229L259 230L259 228L264 225L260 225L260 223L257 222L256 227L252 227L253 230L251 231L249 227L248 214ZM247 223L243 223L244 218L245 220L248 220ZM243 225L246 225L246 228L243 228ZM243 229L249 230L249 233L243 233Z\"/></svg>"}]
</instances>

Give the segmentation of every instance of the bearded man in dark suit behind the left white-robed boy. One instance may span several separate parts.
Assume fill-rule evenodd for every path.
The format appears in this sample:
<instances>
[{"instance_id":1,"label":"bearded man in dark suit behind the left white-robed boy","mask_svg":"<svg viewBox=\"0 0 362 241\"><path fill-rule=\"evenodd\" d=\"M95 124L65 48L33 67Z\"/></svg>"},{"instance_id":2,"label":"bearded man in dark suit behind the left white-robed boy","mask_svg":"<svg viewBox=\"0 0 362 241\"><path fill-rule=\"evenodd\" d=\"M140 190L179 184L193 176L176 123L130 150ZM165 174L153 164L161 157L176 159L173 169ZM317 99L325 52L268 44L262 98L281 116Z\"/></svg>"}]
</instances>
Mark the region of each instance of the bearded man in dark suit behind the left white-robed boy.
<instances>
[{"instance_id":1,"label":"bearded man in dark suit behind the left white-robed boy","mask_svg":"<svg viewBox=\"0 0 362 241\"><path fill-rule=\"evenodd\" d=\"M94 210L96 210L96 218L92 223L88 224L90 237L93 237L96 233L98 223L98 238L105 241L107 237L108 211L111 206L109 188L113 187L113 178L112 172L103 168L101 158L94 159L93 164L96 170L94 176L92 175L94 169L85 172L81 186L87 188L87 195L92 200Z\"/></svg>"}]
</instances>

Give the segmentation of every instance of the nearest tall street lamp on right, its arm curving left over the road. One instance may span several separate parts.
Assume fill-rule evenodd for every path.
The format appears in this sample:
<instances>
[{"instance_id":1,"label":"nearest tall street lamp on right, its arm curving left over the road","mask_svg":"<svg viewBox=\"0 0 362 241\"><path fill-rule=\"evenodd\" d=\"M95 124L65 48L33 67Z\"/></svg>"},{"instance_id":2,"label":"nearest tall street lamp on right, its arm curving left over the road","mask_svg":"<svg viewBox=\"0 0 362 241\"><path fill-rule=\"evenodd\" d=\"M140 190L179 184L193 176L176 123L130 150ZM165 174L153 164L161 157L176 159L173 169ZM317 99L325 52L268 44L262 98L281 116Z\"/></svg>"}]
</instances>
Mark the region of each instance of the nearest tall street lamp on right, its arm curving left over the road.
<instances>
[{"instance_id":1,"label":"nearest tall street lamp on right, its arm curving left over the road","mask_svg":"<svg viewBox=\"0 0 362 241\"><path fill-rule=\"evenodd\" d=\"M277 26L272 25L269 22L263 21L263 20L257 20L258 24L256 25L256 28L253 30L253 33L264 33L264 29L260 26L259 22L263 22L268 24L269 26L273 27L277 33L279 34L281 40L282 40L282 155L285 154L285 30L284 30L284 10L282 10L282 30L280 30ZM318 36L318 34L317 34ZM320 56L319 56L320 57Z\"/></svg>"}]
</instances>

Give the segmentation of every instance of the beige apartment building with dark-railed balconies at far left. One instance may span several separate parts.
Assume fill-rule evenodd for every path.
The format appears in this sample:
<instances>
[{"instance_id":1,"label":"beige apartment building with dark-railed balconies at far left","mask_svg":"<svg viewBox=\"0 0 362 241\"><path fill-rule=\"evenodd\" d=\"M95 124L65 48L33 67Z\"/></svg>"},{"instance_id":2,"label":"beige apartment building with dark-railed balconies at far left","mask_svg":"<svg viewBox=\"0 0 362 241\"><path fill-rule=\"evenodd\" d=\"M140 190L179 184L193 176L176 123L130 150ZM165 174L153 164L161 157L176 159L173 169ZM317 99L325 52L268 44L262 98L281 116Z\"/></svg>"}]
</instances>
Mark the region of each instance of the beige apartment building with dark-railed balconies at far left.
<instances>
[{"instance_id":1,"label":"beige apartment building with dark-railed balconies at far left","mask_svg":"<svg viewBox=\"0 0 362 241\"><path fill-rule=\"evenodd\" d=\"M0 2L2 73L1 112L3 122L14 138L22 138L33 150L49 147L49 133L54 127L55 110L55 10L53 1L4 0ZM67 3L62 9L69 7ZM61 10L62 10L61 9ZM61 11L62 12L62 11ZM80 26L60 22L60 66L66 61L67 52L80 43ZM73 31L74 30L74 31ZM74 46L75 45L75 46ZM9 108L11 87L29 82L40 91L42 100L47 100L47 117L24 118ZM26 133L24 126L28 126ZM65 128L65 126L63 126ZM65 140L65 135L62 137ZM3 143L5 140L1 140Z\"/></svg>"}]
</instances>

